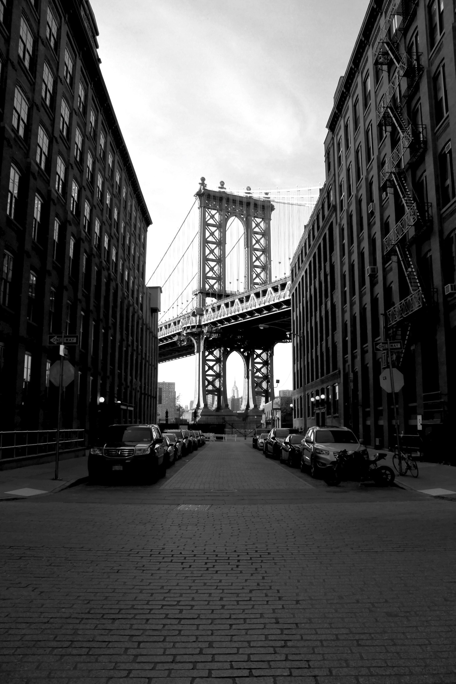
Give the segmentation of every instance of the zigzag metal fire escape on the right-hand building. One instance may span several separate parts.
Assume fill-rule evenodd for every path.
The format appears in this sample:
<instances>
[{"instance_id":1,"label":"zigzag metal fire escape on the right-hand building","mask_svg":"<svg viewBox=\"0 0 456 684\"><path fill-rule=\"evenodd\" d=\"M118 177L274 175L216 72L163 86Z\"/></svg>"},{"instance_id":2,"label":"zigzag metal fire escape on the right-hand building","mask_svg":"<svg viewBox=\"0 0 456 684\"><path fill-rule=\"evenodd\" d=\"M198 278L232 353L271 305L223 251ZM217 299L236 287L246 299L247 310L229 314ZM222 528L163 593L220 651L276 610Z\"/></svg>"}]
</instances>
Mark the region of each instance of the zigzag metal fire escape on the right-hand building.
<instances>
[{"instance_id":1,"label":"zigzag metal fire escape on the right-hand building","mask_svg":"<svg viewBox=\"0 0 456 684\"><path fill-rule=\"evenodd\" d=\"M400 40L416 12L416 0L393 0L373 47L374 64L388 70L394 64L395 72L388 90L377 107L377 125L397 131L399 142L392 150L380 172L380 185L384 191L395 188L404 207L404 213L384 238L384 254L394 250L403 268L410 294L387 311L388 327L397 332L398 324L406 324L404 351L410 337L411 319L415 311L431 304L432 293L424 286L414 263L410 246L416 237L432 224L429 204L417 202L407 170L420 160L426 150L426 127L407 118L407 103L419 88L423 66L420 53L400 53ZM403 354L401 360L403 358Z\"/></svg>"}]
</instances>

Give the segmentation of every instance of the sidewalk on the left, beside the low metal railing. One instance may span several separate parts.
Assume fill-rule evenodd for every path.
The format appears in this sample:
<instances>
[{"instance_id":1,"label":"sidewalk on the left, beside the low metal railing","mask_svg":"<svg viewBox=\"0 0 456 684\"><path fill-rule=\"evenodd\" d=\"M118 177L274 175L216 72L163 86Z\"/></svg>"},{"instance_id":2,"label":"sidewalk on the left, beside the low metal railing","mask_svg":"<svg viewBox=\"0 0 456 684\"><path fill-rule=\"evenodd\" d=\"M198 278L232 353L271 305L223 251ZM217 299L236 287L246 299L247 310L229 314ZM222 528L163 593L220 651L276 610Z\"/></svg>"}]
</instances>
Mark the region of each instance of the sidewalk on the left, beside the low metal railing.
<instances>
[{"instance_id":1,"label":"sidewalk on the left, beside the low metal railing","mask_svg":"<svg viewBox=\"0 0 456 684\"><path fill-rule=\"evenodd\" d=\"M0 501L23 499L58 492L77 480L88 477L87 458L69 458L59 462L59 480L53 479L55 463L40 463L15 470L0 471Z\"/></svg>"}]
</instances>

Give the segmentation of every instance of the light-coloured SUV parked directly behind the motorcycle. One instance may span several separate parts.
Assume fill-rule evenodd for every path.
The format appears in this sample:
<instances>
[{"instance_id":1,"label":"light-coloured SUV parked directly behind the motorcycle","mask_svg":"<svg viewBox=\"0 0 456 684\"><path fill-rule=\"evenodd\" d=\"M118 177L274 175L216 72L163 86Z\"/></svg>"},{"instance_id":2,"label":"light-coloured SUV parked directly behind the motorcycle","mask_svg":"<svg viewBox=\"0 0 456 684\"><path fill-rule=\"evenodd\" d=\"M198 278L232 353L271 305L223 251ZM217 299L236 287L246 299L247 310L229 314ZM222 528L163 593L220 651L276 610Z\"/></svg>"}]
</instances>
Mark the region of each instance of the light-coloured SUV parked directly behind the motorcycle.
<instances>
[{"instance_id":1,"label":"light-coloured SUV parked directly behind the motorcycle","mask_svg":"<svg viewBox=\"0 0 456 684\"><path fill-rule=\"evenodd\" d=\"M301 472L310 468L312 477L319 477L326 466L336 461L336 455L343 449L368 456L366 447L360 444L349 428L309 428L301 446Z\"/></svg>"}]
</instances>

